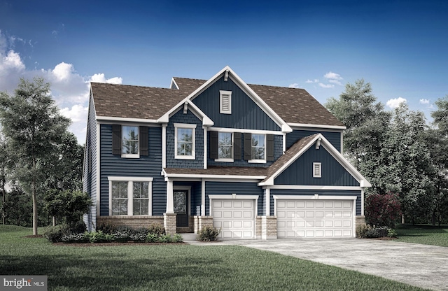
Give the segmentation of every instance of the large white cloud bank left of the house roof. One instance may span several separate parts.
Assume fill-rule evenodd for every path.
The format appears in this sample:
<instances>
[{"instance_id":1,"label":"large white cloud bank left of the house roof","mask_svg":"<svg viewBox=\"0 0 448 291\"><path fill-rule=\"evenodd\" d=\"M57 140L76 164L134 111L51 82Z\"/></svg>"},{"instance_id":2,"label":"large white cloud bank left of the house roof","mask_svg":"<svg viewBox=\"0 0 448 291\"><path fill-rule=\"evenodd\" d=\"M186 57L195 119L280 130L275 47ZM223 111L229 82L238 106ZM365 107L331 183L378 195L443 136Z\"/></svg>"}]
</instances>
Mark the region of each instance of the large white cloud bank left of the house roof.
<instances>
[{"instance_id":1,"label":"large white cloud bank left of the house roof","mask_svg":"<svg viewBox=\"0 0 448 291\"><path fill-rule=\"evenodd\" d=\"M32 80L35 76L45 78L51 84L51 94L61 109L61 114L72 121L69 130L76 135L78 143L85 142L87 125L89 82L94 78L104 79L104 83L121 84L122 78L106 79L104 73L92 77L80 76L73 64L60 62L53 69L27 69L22 57L13 50L11 42L22 41L21 38L8 39L0 30L0 92L13 94L20 78ZM38 64L38 63L37 63ZM99 81L99 80L97 80Z\"/></svg>"}]
</instances>

